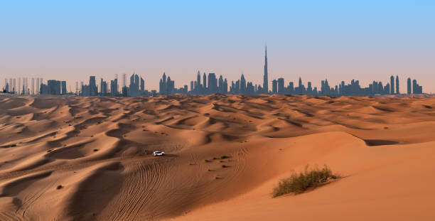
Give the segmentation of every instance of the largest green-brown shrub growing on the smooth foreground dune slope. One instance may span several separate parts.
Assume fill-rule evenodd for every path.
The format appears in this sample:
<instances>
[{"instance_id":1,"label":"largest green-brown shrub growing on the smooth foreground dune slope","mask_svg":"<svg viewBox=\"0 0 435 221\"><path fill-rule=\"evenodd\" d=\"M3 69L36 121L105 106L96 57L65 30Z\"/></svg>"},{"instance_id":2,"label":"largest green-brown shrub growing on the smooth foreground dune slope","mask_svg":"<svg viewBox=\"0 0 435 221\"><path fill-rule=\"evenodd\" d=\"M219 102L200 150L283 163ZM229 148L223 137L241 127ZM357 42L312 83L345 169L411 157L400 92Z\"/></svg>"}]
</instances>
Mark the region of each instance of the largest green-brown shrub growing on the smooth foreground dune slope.
<instances>
[{"instance_id":1,"label":"largest green-brown shrub growing on the smooth foreground dune slope","mask_svg":"<svg viewBox=\"0 0 435 221\"><path fill-rule=\"evenodd\" d=\"M339 178L340 176L334 174L328 166L323 168L313 168L308 171L308 165L305 167L305 171L301 173L293 173L289 178L281 180L274 192L273 197L276 198L280 195L287 193L303 193L308 188L316 188L323 183Z\"/></svg>"}]
</instances>

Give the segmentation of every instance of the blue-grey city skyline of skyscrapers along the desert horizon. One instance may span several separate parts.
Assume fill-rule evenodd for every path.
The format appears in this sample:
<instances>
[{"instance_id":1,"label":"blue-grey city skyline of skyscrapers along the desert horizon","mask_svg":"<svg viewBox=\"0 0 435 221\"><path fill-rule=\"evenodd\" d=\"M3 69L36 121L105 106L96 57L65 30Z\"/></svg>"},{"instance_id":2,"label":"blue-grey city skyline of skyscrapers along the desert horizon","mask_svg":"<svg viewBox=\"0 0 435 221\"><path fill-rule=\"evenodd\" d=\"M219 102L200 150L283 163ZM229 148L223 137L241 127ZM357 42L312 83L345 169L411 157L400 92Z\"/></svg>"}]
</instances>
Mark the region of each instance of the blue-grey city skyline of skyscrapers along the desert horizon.
<instances>
[{"instance_id":1,"label":"blue-grey city skyline of skyscrapers along the desert horizon","mask_svg":"<svg viewBox=\"0 0 435 221\"><path fill-rule=\"evenodd\" d=\"M78 82L75 83L75 92L68 92L65 81L48 80L44 84L42 78L32 78L31 87L28 85L28 78L18 78L18 85L15 78L5 79L4 92L17 95L67 95L74 94L85 97L90 96L123 96L123 97L136 97L136 96L149 96L149 95L172 95L172 94L188 94L188 95L210 95L215 93L221 94L234 94L234 95L258 95L258 94L278 94L278 95L328 95L328 96L372 96L372 95L399 95L399 77L391 76L390 82L383 85L382 82L373 81L368 87L361 87L359 80L352 80L349 84L344 81L339 85L331 87L328 80L321 81L321 87L313 87L311 82L306 85L299 77L297 85L294 82L286 84L284 78L272 80L272 90L269 90L269 76L267 70L267 48L264 54L264 75L262 85L254 85L245 79L242 74L240 80L232 81L228 85L227 78L224 79L222 75L219 78L215 73L210 72L208 75L204 72L201 81L201 74L198 71L196 80L190 81L190 90L188 85L176 88L174 80L163 72L163 76L159 82L159 91L145 90L144 78L136 75L130 77L130 84L127 87L127 75L122 76L123 84L121 91L119 91L118 76L115 75L114 80L110 81L108 85L102 78L100 85L97 85L95 76L90 76L89 84L81 83L78 87ZM36 83L36 85L35 85ZM100 86L100 90L99 90ZM109 87L108 87L109 86ZM422 94L423 88L417 83L417 80L407 79L407 94Z\"/></svg>"}]
</instances>

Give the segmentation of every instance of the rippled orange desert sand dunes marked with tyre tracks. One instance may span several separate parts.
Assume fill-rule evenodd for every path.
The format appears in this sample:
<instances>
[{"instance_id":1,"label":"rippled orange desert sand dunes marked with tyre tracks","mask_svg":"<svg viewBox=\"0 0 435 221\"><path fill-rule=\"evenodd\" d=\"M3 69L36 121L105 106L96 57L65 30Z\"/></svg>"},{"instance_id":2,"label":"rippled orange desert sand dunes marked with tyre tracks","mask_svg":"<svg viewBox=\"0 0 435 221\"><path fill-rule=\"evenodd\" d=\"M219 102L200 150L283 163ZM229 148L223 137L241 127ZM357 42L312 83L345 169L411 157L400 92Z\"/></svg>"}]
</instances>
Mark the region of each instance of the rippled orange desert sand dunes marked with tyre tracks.
<instances>
[{"instance_id":1,"label":"rippled orange desert sand dunes marked with tyre tracks","mask_svg":"<svg viewBox=\"0 0 435 221\"><path fill-rule=\"evenodd\" d=\"M342 178L272 198L307 164ZM435 97L0 95L0 220L435 220L434 201Z\"/></svg>"}]
</instances>

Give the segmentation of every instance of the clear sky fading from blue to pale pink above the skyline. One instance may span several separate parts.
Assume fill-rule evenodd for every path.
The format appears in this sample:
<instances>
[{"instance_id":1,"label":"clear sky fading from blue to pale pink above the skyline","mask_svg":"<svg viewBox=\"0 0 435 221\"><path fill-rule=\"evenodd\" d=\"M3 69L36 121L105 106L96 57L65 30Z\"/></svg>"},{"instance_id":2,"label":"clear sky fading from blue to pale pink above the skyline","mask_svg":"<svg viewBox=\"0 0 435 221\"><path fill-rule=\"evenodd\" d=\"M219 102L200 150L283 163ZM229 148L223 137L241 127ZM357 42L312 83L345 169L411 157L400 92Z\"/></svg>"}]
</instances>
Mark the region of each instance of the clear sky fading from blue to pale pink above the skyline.
<instances>
[{"instance_id":1,"label":"clear sky fading from blue to pale pink above the skyline","mask_svg":"<svg viewBox=\"0 0 435 221\"><path fill-rule=\"evenodd\" d=\"M319 86L399 75L435 92L435 1L19 1L0 2L0 85L9 77L88 82L89 75L176 87L196 72L262 84L302 77ZM127 77L129 78L129 77ZM2 87L1 86L1 87ZM271 86L269 86L271 87ZM68 86L69 90L69 86Z\"/></svg>"}]
</instances>

